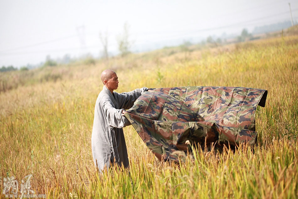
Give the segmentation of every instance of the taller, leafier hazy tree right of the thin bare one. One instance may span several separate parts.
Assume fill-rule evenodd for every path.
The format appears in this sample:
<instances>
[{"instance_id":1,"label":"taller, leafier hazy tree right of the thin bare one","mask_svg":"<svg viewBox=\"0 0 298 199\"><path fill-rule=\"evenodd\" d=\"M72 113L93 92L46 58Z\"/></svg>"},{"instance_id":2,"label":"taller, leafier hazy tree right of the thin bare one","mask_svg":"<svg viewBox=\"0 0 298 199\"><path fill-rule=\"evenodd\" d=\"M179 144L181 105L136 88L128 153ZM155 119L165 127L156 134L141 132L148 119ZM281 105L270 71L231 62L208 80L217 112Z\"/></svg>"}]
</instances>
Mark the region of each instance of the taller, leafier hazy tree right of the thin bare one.
<instances>
[{"instance_id":1,"label":"taller, leafier hazy tree right of the thin bare one","mask_svg":"<svg viewBox=\"0 0 298 199\"><path fill-rule=\"evenodd\" d=\"M124 57L125 55L129 54L132 42L129 40L129 25L127 22L125 22L123 26L123 34L118 35L116 39L121 56Z\"/></svg>"}]
</instances>

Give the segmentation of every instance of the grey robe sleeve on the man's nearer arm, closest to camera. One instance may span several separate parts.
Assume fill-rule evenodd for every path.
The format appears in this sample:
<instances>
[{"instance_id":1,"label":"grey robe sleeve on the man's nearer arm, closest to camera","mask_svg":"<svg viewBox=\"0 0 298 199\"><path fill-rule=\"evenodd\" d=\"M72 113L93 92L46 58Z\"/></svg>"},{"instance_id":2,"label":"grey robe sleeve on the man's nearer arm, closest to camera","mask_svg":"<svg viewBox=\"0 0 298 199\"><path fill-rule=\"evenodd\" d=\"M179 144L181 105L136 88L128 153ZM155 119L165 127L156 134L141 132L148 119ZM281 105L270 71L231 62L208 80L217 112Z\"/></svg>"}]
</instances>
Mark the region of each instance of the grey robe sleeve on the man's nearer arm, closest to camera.
<instances>
[{"instance_id":1,"label":"grey robe sleeve on the man's nearer arm, closest to camera","mask_svg":"<svg viewBox=\"0 0 298 199\"><path fill-rule=\"evenodd\" d=\"M123 128L130 125L130 122L122 115L122 109L116 109L109 100L103 102L104 115L110 127Z\"/></svg>"}]
</instances>

